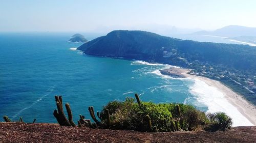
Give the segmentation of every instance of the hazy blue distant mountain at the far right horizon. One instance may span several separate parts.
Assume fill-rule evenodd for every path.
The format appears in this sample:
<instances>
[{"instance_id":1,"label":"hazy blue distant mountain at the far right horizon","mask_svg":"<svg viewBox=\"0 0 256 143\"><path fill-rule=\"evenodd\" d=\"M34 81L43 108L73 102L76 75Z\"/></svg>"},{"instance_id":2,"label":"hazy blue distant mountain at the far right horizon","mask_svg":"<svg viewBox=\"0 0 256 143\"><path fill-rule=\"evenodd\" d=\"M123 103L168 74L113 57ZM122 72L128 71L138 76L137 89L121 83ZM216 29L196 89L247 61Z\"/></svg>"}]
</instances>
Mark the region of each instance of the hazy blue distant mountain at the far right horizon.
<instances>
[{"instance_id":1,"label":"hazy blue distant mountain at the far right horizon","mask_svg":"<svg viewBox=\"0 0 256 143\"><path fill-rule=\"evenodd\" d=\"M241 36L253 36L256 37L256 27L245 27L239 25L229 25L220 28L215 31L199 31L193 34L200 35L213 35L213 36L223 36L223 37L241 37Z\"/></svg>"}]
</instances>

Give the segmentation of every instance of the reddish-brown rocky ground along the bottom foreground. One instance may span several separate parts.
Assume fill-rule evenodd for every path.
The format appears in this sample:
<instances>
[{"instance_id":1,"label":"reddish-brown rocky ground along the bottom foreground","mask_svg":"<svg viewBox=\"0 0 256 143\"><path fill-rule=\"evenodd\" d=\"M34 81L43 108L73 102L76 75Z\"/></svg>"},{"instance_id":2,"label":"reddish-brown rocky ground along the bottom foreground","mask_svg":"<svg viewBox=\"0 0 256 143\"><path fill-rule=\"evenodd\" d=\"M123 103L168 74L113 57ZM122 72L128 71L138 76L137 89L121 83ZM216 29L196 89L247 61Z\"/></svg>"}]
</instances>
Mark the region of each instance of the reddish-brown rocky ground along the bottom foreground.
<instances>
[{"instance_id":1,"label":"reddish-brown rocky ground along the bottom foreground","mask_svg":"<svg viewBox=\"0 0 256 143\"><path fill-rule=\"evenodd\" d=\"M256 142L256 126L234 127L225 132L146 133L45 123L0 123L0 142Z\"/></svg>"}]
</instances>

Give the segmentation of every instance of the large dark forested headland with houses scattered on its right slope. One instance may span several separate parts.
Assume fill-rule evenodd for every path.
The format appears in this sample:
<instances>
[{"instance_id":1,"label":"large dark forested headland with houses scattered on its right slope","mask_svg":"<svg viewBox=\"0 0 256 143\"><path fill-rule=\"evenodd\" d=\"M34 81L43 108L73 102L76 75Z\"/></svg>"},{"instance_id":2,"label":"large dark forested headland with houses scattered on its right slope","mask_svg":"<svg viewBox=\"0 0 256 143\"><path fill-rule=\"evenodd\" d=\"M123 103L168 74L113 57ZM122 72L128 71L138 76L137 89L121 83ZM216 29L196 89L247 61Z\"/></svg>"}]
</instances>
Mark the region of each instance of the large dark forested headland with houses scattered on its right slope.
<instances>
[{"instance_id":1,"label":"large dark forested headland with houses scattered on its right slope","mask_svg":"<svg viewBox=\"0 0 256 143\"><path fill-rule=\"evenodd\" d=\"M84 43L78 50L193 69L189 74L219 80L256 105L256 48L249 45L181 40L144 31L113 31Z\"/></svg>"}]
</instances>

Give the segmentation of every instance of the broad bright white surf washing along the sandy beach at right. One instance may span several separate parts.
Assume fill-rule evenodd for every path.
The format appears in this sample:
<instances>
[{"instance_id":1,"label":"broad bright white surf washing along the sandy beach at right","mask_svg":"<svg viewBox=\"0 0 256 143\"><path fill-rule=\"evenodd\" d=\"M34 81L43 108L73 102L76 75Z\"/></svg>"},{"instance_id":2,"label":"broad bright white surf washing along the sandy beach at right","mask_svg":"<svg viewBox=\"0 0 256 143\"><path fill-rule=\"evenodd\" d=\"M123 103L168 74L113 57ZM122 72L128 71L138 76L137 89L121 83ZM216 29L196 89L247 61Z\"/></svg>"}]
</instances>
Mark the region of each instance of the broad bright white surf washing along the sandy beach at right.
<instances>
[{"instance_id":1,"label":"broad bright white surf washing along the sandy beach at right","mask_svg":"<svg viewBox=\"0 0 256 143\"><path fill-rule=\"evenodd\" d=\"M199 79L194 80L194 84L189 87L190 93L196 96L199 103L208 107L207 112L225 112L232 118L233 126L253 126L253 124L245 118L239 110L233 106L225 98L224 93L215 87L211 87L204 81Z\"/></svg>"}]
</instances>

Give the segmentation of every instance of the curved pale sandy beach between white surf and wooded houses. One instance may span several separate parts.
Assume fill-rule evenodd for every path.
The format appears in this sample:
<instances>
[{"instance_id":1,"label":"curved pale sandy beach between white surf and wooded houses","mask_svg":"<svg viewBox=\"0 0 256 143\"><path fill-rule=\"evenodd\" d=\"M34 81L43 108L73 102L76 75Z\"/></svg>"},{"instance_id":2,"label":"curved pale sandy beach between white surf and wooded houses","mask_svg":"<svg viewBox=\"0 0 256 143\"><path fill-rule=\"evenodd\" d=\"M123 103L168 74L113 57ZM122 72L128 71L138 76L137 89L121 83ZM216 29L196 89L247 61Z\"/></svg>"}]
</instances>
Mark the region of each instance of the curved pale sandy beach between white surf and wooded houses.
<instances>
[{"instance_id":1,"label":"curved pale sandy beach between white surf and wooded houses","mask_svg":"<svg viewBox=\"0 0 256 143\"><path fill-rule=\"evenodd\" d=\"M228 88L226 85L221 83L220 81L209 79L203 76L197 76L197 75L191 75L188 74L190 71L189 69L183 69L183 68L170 68L165 69L165 72L169 72L170 76L173 74L176 74L178 76L184 76L186 78L193 78L193 79L199 79L206 84L208 84L210 87L217 88L221 93L223 93L224 98L227 99L227 101L236 107L238 111L254 126L256 126L256 107L249 103L246 99L243 98L242 95L232 91L230 88ZM168 75L168 74L166 74Z\"/></svg>"}]
</instances>

